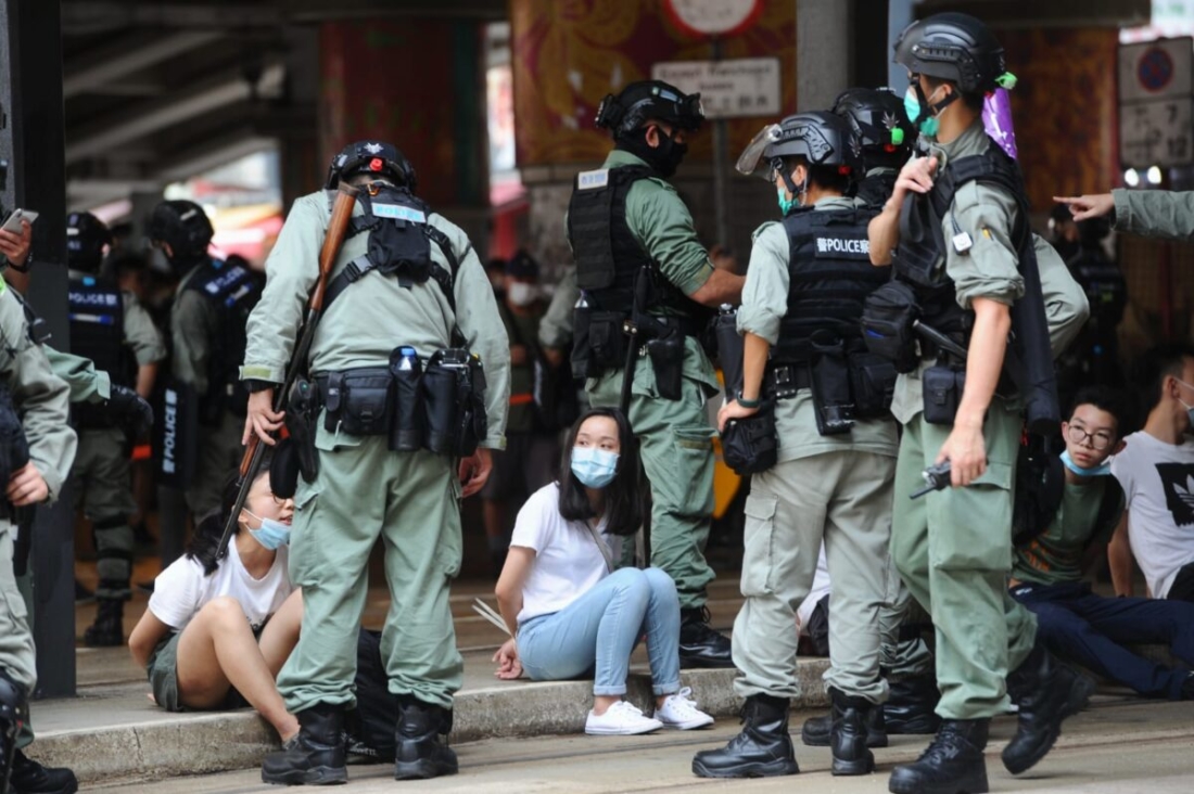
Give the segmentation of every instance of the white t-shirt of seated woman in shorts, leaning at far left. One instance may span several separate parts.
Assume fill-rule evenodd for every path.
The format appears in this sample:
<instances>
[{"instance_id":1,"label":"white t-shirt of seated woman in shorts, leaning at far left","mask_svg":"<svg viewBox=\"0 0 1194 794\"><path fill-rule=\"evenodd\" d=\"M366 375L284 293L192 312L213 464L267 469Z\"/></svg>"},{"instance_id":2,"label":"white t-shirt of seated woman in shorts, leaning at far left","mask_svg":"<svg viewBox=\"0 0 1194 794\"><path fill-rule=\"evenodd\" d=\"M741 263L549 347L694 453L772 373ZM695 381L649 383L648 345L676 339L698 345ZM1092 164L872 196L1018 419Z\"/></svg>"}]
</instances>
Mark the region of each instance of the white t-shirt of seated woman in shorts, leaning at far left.
<instances>
[{"instance_id":1,"label":"white t-shirt of seated woman in shorts, leaning at far left","mask_svg":"<svg viewBox=\"0 0 1194 794\"><path fill-rule=\"evenodd\" d=\"M210 577L203 574L198 561L180 556L158 574L149 611L166 626L181 632L204 604L221 596L232 596L245 610L253 630L265 623L294 591L287 573L287 547L277 550L273 565L260 579L250 576L240 561L236 538L228 543L228 556Z\"/></svg>"}]
</instances>

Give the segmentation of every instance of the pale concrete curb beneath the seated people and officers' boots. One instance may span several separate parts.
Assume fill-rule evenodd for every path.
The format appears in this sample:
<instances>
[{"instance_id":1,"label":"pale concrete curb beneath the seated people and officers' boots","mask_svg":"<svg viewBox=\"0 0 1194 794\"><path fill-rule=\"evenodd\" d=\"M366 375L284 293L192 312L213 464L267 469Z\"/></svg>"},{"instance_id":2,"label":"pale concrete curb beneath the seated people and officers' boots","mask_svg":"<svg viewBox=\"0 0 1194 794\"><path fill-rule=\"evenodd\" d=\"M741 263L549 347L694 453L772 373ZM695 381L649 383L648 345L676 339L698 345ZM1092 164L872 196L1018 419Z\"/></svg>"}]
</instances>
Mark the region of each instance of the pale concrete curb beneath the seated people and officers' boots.
<instances>
[{"instance_id":1,"label":"pale concrete curb beneath the seated people and officers' boots","mask_svg":"<svg viewBox=\"0 0 1194 794\"><path fill-rule=\"evenodd\" d=\"M821 675L827 659L801 659L796 666L801 697L793 708L825 708ZM702 710L737 716L734 670L687 670ZM592 694L591 682L496 683L456 696L454 741L581 733ZM651 703L651 679L632 673L628 700ZM650 709L648 709L650 710ZM30 755L50 767L69 767L84 783L154 780L248 769L277 749L273 730L256 712L178 714L177 719L133 722L99 730L38 733Z\"/></svg>"}]
</instances>

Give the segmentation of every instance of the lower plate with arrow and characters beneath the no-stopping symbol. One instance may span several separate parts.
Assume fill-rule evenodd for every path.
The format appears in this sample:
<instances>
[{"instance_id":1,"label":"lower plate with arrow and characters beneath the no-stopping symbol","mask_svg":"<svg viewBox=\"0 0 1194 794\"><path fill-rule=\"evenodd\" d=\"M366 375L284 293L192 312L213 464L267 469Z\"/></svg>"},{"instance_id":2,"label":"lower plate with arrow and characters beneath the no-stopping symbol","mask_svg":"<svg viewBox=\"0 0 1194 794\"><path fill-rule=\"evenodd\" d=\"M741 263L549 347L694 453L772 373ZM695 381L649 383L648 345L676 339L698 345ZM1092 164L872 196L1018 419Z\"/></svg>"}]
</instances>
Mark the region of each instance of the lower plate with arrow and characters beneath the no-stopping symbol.
<instances>
[{"instance_id":1,"label":"lower plate with arrow and characters beneath the no-stopping symbol","mask_svg":"<svg viewBox=\"0 0 1194 794\"><path fill-rule=\"evenodd\" d=\"M1120 106L1120 165L1126 168L1194 162L1194 98Z\"/></svg>"}]
</instances>

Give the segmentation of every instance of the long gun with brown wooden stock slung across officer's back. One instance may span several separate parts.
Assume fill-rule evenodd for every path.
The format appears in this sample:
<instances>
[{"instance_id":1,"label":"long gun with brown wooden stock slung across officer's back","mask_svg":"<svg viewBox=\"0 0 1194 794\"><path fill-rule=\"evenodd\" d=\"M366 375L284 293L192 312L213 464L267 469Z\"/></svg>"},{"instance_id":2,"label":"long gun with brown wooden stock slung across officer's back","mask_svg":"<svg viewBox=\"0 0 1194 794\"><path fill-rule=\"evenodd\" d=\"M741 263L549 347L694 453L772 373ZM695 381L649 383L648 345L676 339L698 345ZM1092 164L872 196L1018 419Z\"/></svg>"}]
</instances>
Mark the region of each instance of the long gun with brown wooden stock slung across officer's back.
<instances>
[{"instance_id":1,"label":"long gun with brown wooden stock slung across officer's back","mask_svg":"<svg viewBox=\"0 0 1194 794\"><path fill-rule=\"evenodd\" d=\"M315 326L324 313L324 296L327 294L327 279L336 266L336 259L340 256L340 247L349 232L349 221L352 220L352 210L357 205L357 193L359 190L352 185L340 183L339 192L336 195L336 203L332 205L332 220L327 224L327 234L324 236L324 246L319 251L319 278L315 281L315 289L307 301L307 316L303 318L302 328L298 332L298 340L295 344L294 355L290 357L290 365L287 367L285 383L281 389L273 392L273 411L282 412L287 407L287 399L295 378L307 365L307 355L310 352L310 341L315 336ZM220 547L216 549L216 559L222 559L228 553L228 541L236 529L240 511L245 507L245 498L257 478L258 469L261 468L261 458L265 449L261 439L257 435L248 437L245 447L245 456L240 461L240 469L236 476L236 500L233 503L232 512L224 521L223 535L220 536Z\"/></svg>"}]
</instances>

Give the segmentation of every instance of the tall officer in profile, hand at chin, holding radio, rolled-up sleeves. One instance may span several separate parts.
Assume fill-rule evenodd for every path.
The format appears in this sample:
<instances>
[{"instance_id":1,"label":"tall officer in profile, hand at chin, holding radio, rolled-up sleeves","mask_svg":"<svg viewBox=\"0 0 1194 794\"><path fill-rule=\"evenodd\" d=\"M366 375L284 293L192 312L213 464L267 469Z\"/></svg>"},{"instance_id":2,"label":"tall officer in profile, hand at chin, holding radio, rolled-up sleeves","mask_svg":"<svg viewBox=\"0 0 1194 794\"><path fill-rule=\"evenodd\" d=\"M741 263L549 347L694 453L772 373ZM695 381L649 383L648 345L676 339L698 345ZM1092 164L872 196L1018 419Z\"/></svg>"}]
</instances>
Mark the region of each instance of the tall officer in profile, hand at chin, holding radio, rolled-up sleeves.
<instances>
[{"instance_id":1,"label":"tall officer in profile, hand at chin, holding radio, rolled-up sleeves","mask_svg":"<svg viewBox=\"0 0 1194 794\"><path fill-rule=\"evenodd\" d=\"M888 786L897 794L981 792L987 725L1007 710L1009 693L1018 731L1003 762L1017 774L1048 752L1091 684L1035 645L1035 620L1007 591L1022 406L1029 426L1034 417L1052 420L1057 407L1022 180L981 122L984 94L1009 81L1003 48L978 19L943 13L910 25L896 61L909 69L909 117L929 156L901 170L870 223L870 258L894 261L897 279L864 322L872 349L904 371L892 405L904 425L892 554L933 616L943 721L929 750L897 767ZM905 202L912 205L901 223ZM1026 325L1009 344L1014 315ZM913 319L965 355L915 345ZM1004 370L1015 388L1001 384ZM946 462L953 487L906 498L922 469Z\"/></svg>"}]
</instances>

